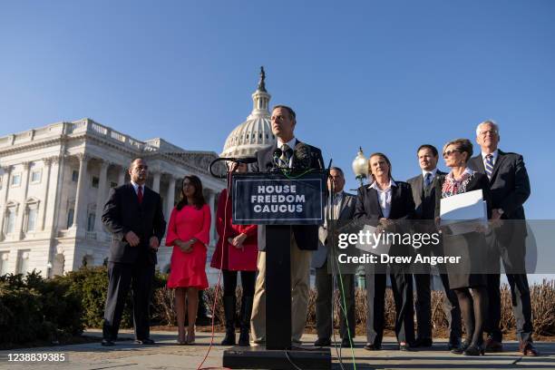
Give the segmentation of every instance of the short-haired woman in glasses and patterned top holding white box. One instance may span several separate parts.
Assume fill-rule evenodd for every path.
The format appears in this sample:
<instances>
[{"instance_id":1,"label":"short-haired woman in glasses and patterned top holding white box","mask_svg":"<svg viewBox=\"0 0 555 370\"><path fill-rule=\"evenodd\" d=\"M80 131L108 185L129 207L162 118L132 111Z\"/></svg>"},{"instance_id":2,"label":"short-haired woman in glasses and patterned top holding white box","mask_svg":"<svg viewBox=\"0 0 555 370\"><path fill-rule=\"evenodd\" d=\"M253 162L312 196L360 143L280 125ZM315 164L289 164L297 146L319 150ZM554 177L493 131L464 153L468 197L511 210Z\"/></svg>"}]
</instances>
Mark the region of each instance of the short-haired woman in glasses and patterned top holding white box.
<instances>
[{"instance_id":1,"label":"short-haired woman in glasses and patterned top holding white box","mask_svg":"<svg viewBox=\"0 0 555 370\"><path fill-rule=\"evenodd\" d=\"M447 175L440 177L436 193L441 198L472 190L482 190L487 204L488 219L492 217L490 183L486 175L470 170L466 163L472 157L472 142L467 139L449 141L443 146L445 165L451 168ZM439 220L440 197L436 203L436 218ZM460 263L447 266L449 287L457 295L466 329L463 346L452 350L455 354L483 355L483 325L486 319L487 291L486 277L483 275L487 244L485 226L461 235L443 232L443 250L446 256L461 256ZM472 292L471 292L472 288Z\"/></svg>"}]
</instances>

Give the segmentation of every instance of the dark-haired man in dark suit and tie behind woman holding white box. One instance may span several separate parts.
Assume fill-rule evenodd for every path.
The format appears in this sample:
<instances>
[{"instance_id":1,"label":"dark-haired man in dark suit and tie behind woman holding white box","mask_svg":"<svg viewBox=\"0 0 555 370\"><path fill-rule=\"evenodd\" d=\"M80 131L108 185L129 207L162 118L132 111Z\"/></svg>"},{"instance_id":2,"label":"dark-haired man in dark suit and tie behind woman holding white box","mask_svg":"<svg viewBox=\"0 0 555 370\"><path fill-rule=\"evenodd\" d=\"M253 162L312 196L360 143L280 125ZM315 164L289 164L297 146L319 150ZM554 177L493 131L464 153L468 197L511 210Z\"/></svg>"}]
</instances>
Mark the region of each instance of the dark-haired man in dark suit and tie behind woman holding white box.
<instances>
[{"instance_id":1,"label":"dark-haired man in dark suit and tie behind woman holding white box","mask_svg":"<svg viewBox=\"0 0 555 370\"><path fill-rule=\"evenodd\" d=\"M439 159L437 149L430 144L421 145L416 151L418 164L422 174L407 180L413 190L414 215L415 219L427 220L419 225L424 232L435 232L433 228L433 216L435 211L435 201L438 194L435 193L435 185L440 176L445 172L437 169ZM432 250L431 246L423 246L418 249L418 253L430 256L432 253L443 256L443 251ZM432 294L430 289L431 273L429 270L423 273L414 274L416 282L416 347L432 346ZM449 344L448 348L458 348L460 346L461 331L461 309L456 294L449 288L449 279L445 271L440 274L445 297L443 300L443 312L447 316L449 323Z\"/></svg>"}]
</instances>

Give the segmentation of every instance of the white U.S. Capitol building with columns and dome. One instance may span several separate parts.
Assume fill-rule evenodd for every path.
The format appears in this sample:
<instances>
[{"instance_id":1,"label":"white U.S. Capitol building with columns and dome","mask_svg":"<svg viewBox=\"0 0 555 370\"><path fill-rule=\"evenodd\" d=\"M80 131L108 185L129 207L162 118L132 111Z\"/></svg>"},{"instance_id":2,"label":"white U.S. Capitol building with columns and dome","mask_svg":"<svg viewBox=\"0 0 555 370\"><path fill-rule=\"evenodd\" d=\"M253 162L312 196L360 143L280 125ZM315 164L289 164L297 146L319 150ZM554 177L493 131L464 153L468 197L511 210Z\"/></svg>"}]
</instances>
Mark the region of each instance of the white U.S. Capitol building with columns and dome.
<instances>
[{"instance_id":1,"label":"white U.S. Capitol building with columns and dome","mask_svg":"<svg viewBox=\"0 0 555 370\"><path fill-rule=\"evenodd\" d=\"M251 155L275 141L263 73L252 99L251 114L229 134L222 156ZM129 181L137 157L149 165L146 185L160 192L166 220L180 200L182 178L200 177L212 212L210 257L218 238L217 199L226 186L208 172L218 154L187 151L160 138L139 141L83 119L0 137L0 276L36 269L53 277L102 265L112 239L102 226L102 209L110 188ZM170 254L171 248L160 248L159 269L169 268Z\"/></svg>"}]
</instances>

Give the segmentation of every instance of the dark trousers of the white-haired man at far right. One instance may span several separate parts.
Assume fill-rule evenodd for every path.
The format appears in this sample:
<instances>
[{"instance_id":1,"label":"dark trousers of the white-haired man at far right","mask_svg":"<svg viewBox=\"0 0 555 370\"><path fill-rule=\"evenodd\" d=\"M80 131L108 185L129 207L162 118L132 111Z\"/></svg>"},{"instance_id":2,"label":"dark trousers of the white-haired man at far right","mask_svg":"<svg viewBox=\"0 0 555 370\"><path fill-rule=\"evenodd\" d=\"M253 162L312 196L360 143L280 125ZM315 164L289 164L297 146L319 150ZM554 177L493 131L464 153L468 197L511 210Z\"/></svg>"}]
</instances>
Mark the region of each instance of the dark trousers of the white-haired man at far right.
<instances>
[{"instance_id":1,"label":"dark trousers of the white-haired man at far right","mask_svg":"<svg viewBox=\"0 0 555 370\"><path fill-rule=\"evenodd\" d=\"M495 242L493 240L492 242ZM507 280L511 287L511 304L512 312L516 320L516 335L521 342L532 342L532 321L531 321L531 297L530 287L528 286L528 277L525 273L525 237L522 235L513 237L506 246L497 243L492 248L492 256L490 256L491 266L496 270L501 268L500 259L503 267L507 272ZM501 258L500 258L501 257ZM513 272L513 273L511 273ZM488 318L485 323L485 329L493 340L501 342L501 291L500 291L501 275L488 274Z\"/></svg>"}]
</instances>

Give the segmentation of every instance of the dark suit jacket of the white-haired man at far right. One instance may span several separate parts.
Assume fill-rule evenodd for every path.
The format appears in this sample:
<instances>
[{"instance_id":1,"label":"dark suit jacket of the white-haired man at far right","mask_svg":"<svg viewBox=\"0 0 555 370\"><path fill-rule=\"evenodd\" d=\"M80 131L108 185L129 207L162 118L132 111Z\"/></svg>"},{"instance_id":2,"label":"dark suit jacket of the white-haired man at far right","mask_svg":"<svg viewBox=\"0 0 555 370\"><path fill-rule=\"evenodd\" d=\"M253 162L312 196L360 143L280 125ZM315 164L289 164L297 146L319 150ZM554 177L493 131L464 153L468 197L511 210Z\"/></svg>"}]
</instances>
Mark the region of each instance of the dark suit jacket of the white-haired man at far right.
<instances>
[{"instance_id":1,"label":"dark suit jacket of the white-haired man at far right","mask_svg":"<svg viewBox=\"0 0 555 370\"><path fill-rule=\"evenodd\" d=\"M522 204L530 197L530 180L522 156L517 153L498 151L493 166L490 189L492 208L503 209L501 219L525 219ZM472 170L485 174L482 153L468 163Z\"/></svg>"}]
</instances>

